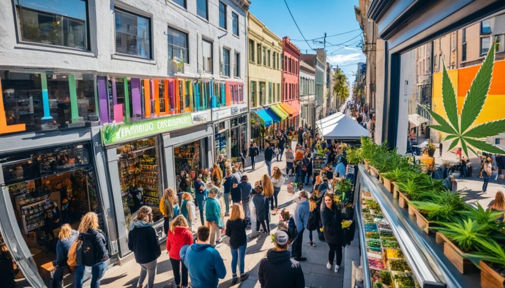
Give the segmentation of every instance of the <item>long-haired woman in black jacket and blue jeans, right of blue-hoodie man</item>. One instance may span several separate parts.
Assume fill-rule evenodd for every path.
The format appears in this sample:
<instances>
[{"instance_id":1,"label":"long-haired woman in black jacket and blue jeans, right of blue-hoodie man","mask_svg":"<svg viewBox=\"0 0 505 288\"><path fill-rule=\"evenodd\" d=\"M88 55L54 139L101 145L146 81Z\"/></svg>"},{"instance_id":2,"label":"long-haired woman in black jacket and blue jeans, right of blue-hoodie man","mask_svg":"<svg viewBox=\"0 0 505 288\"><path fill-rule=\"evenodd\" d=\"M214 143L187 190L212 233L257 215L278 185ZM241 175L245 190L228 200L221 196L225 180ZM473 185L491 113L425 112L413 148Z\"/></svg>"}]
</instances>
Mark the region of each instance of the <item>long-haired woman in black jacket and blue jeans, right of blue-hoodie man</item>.
<instances>
[{"instance_id":1,"label":"long-haired woman in black jacket and blue jeans, right of blue-hoodie man","mask_svg":"<svg viewBox=\"0 0 505 288\"><path fill-rule=\"evenodd\" d=\"M247 278L244 273L245 267L245 248L247 247L247 239L245 238L245 228L247 221L245 221L244 209L240 204L231 205L230 218L226 222L226 236L230 238L231 250L231 273L233 279L231 284L234 285L238 282L237 277L237 261L240 272L240 281Z\"/></svg>"}]
</instances>

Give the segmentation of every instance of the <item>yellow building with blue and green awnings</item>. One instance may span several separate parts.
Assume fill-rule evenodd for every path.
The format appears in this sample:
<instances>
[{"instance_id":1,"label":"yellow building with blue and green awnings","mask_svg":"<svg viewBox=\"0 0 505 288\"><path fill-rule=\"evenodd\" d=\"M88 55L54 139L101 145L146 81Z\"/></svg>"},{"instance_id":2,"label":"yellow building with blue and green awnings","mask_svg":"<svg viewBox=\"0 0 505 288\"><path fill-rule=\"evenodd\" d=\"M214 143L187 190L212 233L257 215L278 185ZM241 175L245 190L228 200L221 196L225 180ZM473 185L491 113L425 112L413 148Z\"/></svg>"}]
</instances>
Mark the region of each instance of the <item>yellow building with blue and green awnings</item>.
<instances>
[{"instance_id":1,"label":"yellow building with blue and green awnings","mask_svg":"<svg viewBox=\"0 0 505 288\"><path fill-rule=\"evenodd\" d=\"M250 13L247 34L251 140L262 147L264 140L272 138L275 128L280 127L279 119L287 118L277 105L281 103L282 39Z\"/></svg>"}]
</instances>

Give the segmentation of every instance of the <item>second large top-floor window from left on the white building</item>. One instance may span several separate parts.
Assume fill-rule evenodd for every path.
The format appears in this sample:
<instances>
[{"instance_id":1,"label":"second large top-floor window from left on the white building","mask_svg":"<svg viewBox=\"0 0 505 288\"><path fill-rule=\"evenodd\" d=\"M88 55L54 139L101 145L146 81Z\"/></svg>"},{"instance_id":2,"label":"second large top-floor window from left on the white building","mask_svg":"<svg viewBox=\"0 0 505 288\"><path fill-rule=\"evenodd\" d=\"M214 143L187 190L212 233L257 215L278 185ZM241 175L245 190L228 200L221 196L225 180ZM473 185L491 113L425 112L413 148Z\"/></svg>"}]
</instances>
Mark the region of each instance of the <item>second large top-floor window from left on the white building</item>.
<instances>
[{"instance_id":1,"label":"second large top-floor window from left on the white building","mask_svg":"<svg viewBox=\"0 0 505 288\"><path fill-rule=\"evenodd\" d=\"M151 57L149 18L115 8L116 52L144 58Z\"/></svg>"}]
</instances>

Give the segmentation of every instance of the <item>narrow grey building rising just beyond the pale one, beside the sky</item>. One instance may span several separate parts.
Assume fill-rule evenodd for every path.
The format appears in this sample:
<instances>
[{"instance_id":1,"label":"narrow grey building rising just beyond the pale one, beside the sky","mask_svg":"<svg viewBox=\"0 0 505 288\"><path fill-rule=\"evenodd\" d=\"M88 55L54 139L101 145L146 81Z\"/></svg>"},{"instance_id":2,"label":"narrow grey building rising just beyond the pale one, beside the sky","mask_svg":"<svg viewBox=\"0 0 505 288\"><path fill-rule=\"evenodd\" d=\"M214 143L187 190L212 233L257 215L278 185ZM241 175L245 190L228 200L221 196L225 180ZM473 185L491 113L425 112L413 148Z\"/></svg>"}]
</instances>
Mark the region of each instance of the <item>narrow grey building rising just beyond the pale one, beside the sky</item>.
<instances>
[{"instance_id":1,"label":"narrow grey building rising just beyond the pale one, beside the sky","mask_svg":"<svg viewBox=\"0 0 505 288\"><path fill-rule=\"evenodd\" d=\"M319 60L316 54L301 54L300 60L309 64L315 70L314 76L314 98L315 98L315 114L316 121L323 119L325 117L323 110L323 102L324 102L324 92L326 87L324 86L325 82L325 71L326 64Z\"/></svg>"}]
</instances>

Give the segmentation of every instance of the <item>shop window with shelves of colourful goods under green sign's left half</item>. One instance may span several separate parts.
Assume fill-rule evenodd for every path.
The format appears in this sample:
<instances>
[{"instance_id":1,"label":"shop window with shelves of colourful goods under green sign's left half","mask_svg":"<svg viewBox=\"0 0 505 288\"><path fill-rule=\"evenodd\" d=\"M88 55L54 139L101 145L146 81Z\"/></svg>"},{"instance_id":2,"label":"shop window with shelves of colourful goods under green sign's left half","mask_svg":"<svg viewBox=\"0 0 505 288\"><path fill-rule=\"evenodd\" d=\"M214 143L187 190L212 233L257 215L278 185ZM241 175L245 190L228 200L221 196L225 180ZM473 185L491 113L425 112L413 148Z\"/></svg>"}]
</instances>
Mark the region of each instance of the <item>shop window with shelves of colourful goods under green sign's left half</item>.
<instances>
[{"instance_id":1,"label":"shop window with shelves of colourful goods under green sign's left half","mask_svg":"<svg viewBox=\"0 0 505 288\"><path fill-rule=\"evenodd\" d=\"M163 183L157 147L157 138L145 138L116 148L126 229L136 211L144 205L153 208L154 221L162 218L158 207Z\"/></svg>"}]
</instances>

